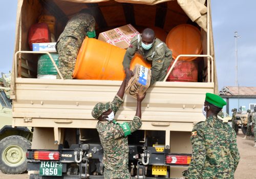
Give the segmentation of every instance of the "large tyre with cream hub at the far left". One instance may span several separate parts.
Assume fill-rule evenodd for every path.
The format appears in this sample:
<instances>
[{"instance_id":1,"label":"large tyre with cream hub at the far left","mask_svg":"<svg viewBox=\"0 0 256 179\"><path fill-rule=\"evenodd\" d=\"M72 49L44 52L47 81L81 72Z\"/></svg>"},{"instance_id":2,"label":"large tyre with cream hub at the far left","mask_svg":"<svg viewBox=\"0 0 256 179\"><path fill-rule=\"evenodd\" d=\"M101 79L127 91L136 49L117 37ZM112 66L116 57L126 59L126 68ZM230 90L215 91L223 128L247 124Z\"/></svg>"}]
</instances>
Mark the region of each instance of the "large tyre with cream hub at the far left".
<instances>
[{"instance_id":1,"label":"large tyre with cream hub at the far left","mask_svg":"<svg viewBox=\"0 0 256 179\"><path fill-rule=\"evenodd\" d=\"M21 136L9 136L0 141L0 169L3 173L18 174L27 170L26 151L31 143Z\"/></svg>"}]
</instances>

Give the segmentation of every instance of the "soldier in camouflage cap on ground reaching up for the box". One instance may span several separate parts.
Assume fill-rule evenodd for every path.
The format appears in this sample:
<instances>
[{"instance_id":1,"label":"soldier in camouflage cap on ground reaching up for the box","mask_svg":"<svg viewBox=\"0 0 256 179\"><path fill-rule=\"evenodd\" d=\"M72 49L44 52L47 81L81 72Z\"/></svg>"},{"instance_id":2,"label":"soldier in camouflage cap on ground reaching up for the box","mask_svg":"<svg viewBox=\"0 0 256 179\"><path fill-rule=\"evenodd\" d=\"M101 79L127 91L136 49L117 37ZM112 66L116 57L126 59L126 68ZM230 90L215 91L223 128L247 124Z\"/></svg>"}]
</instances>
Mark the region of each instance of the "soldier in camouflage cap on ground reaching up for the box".
<instances>
[{"instance_id":1,"label":"soldier in camouflage cap on ground reaching up for the box","mask_svg":"<svg viewBox=\"0 0 256 179\"><path fill-rule=\"evenodd\" d=\"M104 178L131 178L128 167L128 139L127 135L138 130L141 122L141 102L145 98L137 95L136 115L131 122L117 123L114 115L123 103L125 80L112 102L106 104L97 103L92 110L92 116L98 119L97 130L99 132L100 143L103 147Z\"/></svg>"}]
</instances>

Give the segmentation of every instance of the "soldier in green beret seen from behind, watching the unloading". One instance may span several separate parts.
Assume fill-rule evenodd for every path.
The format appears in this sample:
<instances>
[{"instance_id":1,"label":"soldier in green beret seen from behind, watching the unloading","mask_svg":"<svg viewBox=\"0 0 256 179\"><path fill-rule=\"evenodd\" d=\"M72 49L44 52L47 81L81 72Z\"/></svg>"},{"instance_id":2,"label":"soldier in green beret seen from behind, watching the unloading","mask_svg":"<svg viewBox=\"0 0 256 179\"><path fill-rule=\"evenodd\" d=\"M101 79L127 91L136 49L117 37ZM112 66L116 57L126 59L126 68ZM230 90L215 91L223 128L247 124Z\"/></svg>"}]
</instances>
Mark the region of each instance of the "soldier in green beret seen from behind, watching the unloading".
<instances>
[{"instance_id":1,"label":"soldier in green beret seen from behind, watching the unloading","mask_svg":"<svg viewBox=\"0 0 256 179\"><path fill-rule=\"evenodd\" d=\"M197 123L191 132L193 154L183 176L189 179L234 178L240 154L236 133L218 117L226 102L219 96L207 93L203 114L206 120Z\"/></svg>"}]
</instances>

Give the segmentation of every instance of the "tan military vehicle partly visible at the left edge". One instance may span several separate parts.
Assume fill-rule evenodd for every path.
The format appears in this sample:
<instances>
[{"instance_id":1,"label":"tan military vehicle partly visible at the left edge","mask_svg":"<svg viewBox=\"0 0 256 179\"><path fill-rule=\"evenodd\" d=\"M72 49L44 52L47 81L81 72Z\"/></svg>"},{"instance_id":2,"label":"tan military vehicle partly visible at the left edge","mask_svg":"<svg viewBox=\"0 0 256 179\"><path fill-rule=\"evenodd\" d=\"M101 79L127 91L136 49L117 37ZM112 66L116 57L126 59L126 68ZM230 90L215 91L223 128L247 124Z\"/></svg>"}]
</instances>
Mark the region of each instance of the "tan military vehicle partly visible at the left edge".
<instances>
[{"instance_id":1,"label":"tan military vehicle partly visible at the left edge","mask_svg":"<svg viewBox=\"0 0 256 179\"><path fill-rule=\"evenodd\" d=\"M10 74L0 78L0 169L3 173L23 173L27 169L26 151L31 148L32 132L27 127L12 127Z\"/></svg>"}]
</instances>

